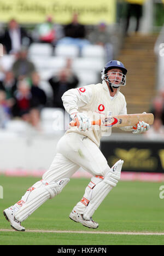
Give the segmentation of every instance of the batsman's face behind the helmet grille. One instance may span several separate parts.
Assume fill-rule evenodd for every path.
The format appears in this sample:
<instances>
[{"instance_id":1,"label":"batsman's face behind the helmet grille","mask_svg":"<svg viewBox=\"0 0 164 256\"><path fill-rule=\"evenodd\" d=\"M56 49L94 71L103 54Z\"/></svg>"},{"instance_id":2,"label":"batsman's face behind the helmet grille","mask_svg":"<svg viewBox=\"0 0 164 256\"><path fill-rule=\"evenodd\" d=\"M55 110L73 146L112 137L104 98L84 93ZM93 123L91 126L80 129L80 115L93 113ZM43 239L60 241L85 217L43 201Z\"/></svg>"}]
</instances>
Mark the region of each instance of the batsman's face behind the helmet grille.
<instances>
[{"instance_id":1,"label":"batsman's face behind the helmet grille","mask_svg":"<svg viewBox=\"0 0 164 256\"><path fill-rule=\"evenodd\" d=\"M120 85L122 82L122 78L124 74L122 74L122 71L120 68L113 68L110 69L107 73L108 75L108 80L110 83L115 84L115 85Z\"/></svg>"}]
</instances>

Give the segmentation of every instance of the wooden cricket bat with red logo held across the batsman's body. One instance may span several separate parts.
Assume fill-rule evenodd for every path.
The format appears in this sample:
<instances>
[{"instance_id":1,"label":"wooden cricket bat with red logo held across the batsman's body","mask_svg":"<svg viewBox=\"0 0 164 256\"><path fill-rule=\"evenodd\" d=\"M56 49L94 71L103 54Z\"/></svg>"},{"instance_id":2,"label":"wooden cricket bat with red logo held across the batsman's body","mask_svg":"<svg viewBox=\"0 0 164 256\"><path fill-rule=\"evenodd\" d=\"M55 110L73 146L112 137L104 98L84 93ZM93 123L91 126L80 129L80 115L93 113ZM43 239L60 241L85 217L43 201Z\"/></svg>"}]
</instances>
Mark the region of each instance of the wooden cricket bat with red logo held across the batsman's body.
<instances>
[{"instance_id":1,"label":"wooden cricket bat with red logo held across the batsman's body","mask_svg":"<svg viewBox=\"0 0 164 256\"><path fill-rule=\"evenodd\" d=\"M92 125L108 126L108 127L122 127L135 126L139 121L152 125L154 122L154 115L152 113L146 114L129 114L129 115L115 115L92 121ZM77 126L77 123L70 123L70 126Z\"/></svg>"}]
</instances>

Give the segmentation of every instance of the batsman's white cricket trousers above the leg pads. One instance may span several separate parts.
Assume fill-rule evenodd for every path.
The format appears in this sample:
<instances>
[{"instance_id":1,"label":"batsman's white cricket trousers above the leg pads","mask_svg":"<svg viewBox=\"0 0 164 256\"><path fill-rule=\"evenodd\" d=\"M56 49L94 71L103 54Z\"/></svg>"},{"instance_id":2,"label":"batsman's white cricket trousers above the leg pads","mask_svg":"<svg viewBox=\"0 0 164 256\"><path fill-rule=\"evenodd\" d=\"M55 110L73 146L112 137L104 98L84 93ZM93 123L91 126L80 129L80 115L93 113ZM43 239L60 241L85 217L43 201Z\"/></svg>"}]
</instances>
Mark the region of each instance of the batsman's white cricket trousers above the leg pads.
<instances>
[{"instance_id":1,"label":"batsman's white cricket trousers above the leg pads","mask_svg":"<svg viewBox=\"0 0 164 256\"><path fill-rule=\"evenodd\" d=\"M50 183L71 176L82 167L93 176L109 171L106 158L97 145L79 133L66 133L57 143L57 154L43 179Z\"/></svg>"}]
</instances>

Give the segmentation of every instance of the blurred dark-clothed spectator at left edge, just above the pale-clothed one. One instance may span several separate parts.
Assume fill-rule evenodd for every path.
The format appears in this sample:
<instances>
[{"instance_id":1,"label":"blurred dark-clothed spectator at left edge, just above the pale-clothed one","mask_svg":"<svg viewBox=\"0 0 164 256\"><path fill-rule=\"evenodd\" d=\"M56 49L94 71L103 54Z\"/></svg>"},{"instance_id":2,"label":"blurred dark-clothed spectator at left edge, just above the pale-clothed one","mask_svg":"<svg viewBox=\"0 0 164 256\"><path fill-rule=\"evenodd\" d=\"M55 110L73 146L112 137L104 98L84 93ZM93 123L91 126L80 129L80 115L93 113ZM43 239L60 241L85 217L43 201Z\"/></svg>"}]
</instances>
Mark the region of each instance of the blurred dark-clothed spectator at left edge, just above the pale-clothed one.
<instances>
[{"instance_id":1,"label":"blurred dark-clothed spectator at left edge, just above the pale-clothed one","mask_svg":"<svg viewBox=\"0 0 164 256\"><path fill-rule=\"evenodd\" d=\"M16 79L12 71L7 71L4 74L4 79L0 81L0 90L5 91L8 100L13 98L16 90Z\"/></svg>"}]
</instances>

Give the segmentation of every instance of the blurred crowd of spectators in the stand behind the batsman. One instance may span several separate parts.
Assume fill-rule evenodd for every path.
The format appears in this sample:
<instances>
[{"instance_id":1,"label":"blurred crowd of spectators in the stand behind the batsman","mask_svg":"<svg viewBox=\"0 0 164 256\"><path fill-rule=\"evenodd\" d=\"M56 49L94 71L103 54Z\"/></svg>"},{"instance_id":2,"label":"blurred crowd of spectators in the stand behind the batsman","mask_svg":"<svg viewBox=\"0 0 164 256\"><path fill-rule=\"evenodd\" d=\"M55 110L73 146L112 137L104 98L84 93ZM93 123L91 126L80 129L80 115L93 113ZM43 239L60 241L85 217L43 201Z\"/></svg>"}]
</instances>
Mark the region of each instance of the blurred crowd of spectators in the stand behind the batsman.
<instances>
[{"instance_id":1,"label":"blurred crowd of spectators in the stand behind the batsman","mask_svg":"<svg viewBox=\"0 0 164 256\"><path fill-rule=\"evenodd\" d=\"M71 59L58 74L48 79L52 91L51 100L40 86L40 77L34 63L28 59L28 49L32 43L75 44L82 49L87 44L103 45L109 59L113 59L113 46L107 25L100 22L87 33L86 26L80 24L78 14L73 14L72 22L65 26L56 24L51 16L36 25L33 30L22 28L15 19L11 19L0 34L3 54L14 56L13 65L5 70L0 62L0 127L7 121L20 118L38 127L40 111L44 107L63 108L61 96L65 91L76 88L79 78L71 68Z\"/></svg>"}]
</instances>

